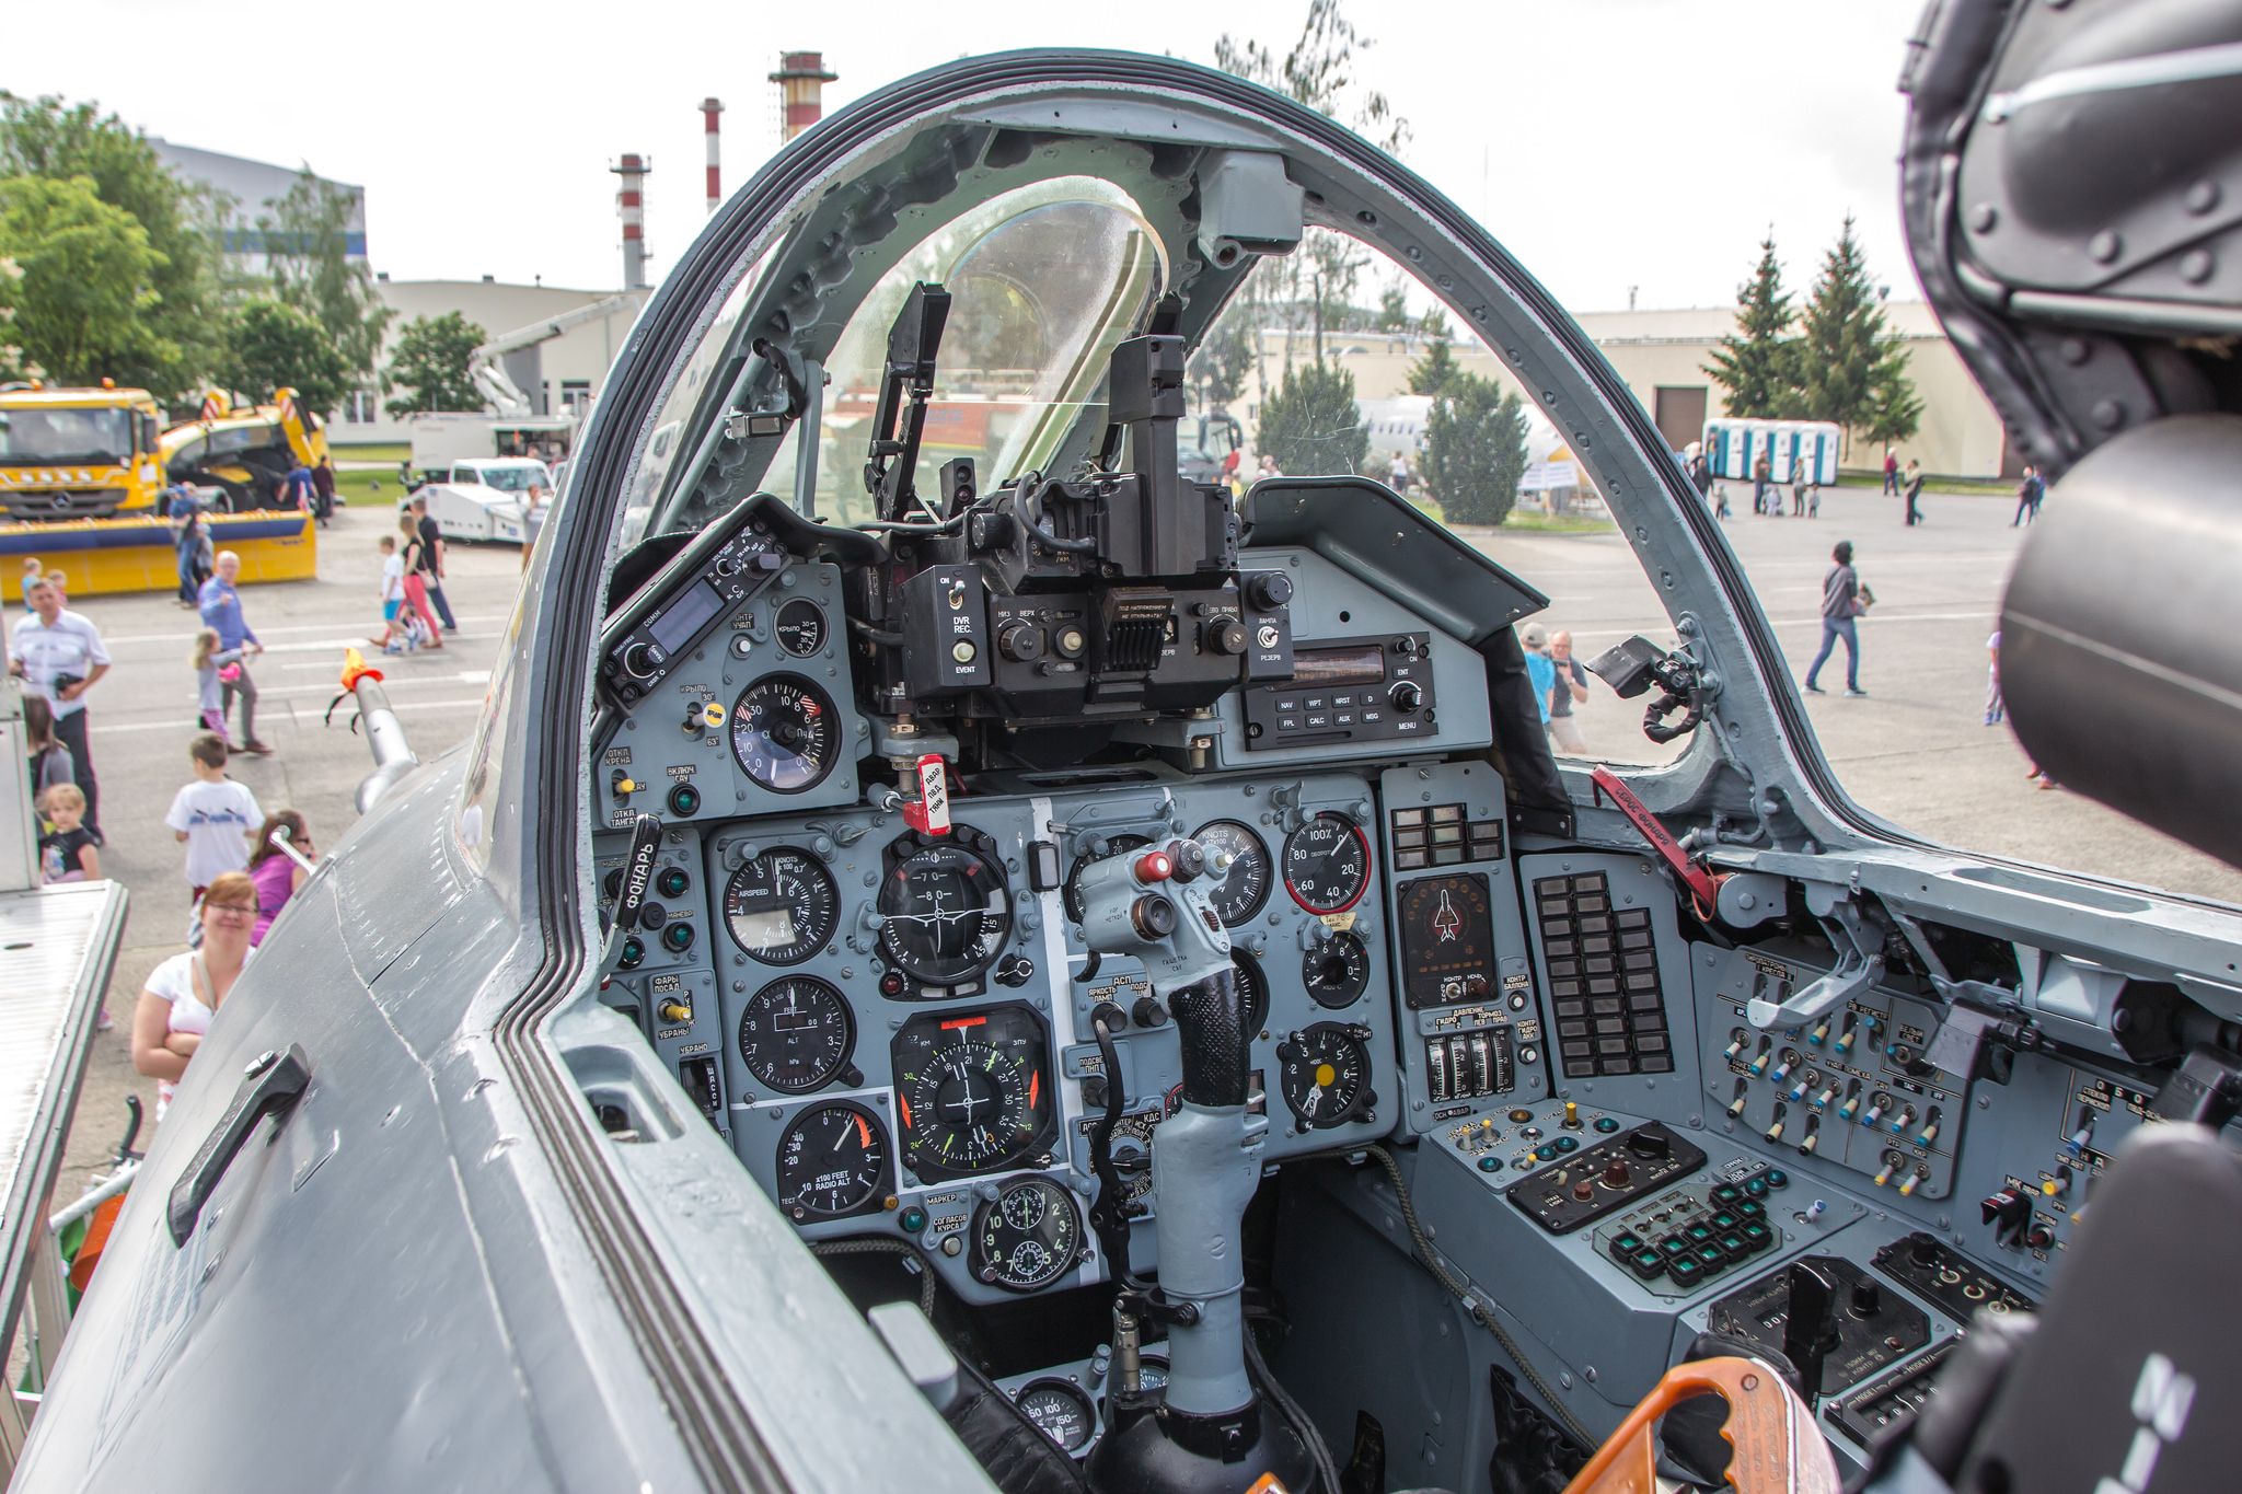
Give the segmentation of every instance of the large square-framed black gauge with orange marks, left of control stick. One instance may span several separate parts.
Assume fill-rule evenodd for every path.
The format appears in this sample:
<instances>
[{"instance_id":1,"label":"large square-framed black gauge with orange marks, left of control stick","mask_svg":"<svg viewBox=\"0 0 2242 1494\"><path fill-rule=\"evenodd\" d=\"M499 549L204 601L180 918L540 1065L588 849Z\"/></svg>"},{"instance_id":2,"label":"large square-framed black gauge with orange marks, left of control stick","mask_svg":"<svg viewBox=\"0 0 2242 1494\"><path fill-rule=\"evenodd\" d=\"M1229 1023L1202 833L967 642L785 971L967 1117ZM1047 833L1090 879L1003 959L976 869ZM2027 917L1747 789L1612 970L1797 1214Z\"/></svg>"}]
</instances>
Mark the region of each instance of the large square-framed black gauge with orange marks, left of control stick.
<instances>
[{"instance_id":1,"label":"large square-framed black gauge with orange marks, left of control stick","mask_svg":"<svg viewBox=\"0 0 2242 1494\"><path fill-rule=\"evenodd\" d=\"M1051 1129L1045 1046L1043 1021L1027 1008L904 1024L888 1057L912 1171L962 1178L1043 1151Z\"/></svg>"}]
</instances>

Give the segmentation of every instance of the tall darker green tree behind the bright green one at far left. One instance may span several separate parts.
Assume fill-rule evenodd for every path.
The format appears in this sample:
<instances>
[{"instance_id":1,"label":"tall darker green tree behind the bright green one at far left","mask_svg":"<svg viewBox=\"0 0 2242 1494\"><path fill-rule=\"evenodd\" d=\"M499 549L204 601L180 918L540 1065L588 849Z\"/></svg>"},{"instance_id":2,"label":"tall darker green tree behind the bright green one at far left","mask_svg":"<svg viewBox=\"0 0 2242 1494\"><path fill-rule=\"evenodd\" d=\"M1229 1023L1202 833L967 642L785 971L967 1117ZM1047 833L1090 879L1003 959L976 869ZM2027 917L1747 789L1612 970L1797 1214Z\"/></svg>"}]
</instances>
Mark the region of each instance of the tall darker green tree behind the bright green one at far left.
<instances>
[{"instance_id":1,"label":"tall darker green tree behind the bright green one at far left","mask_svg":"<svg viewBox=\"0 0 2242 1494\"><path fill-rule=\"evenodd\" d=\"M139 130L92 103L0 94L0 177L11 175L90 177L101 202L139 222L155 253L150 296L132 309L128 349L103 372L161 401L188 396L217 367L224 323L211 195L179 181Z\"/></svg>"}]
</instances>

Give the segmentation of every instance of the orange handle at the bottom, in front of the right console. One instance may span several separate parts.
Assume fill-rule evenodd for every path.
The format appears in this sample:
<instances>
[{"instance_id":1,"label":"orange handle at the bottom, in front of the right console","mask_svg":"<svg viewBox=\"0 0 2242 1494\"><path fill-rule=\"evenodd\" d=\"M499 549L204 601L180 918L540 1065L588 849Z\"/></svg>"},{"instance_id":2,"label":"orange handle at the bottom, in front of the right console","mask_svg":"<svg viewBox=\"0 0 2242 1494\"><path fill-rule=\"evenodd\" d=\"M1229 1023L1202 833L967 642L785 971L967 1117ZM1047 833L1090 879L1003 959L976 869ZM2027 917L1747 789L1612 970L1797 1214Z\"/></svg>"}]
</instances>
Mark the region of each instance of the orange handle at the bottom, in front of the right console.
<instances>
[{"instance_id":1,"label":"orange handle at the bottom, in front of the right console","mask_svg":"<svg viewBox=\"0 0 2242 1494\"><path fill-rule=\"evenodd\" d=\"M1643 1404L1619 1422L1565 1494L1657 1494L1657 1422L1684 1400L1720 1395L1729 1422L1720 1436L1735 1451L1729 1485L1740 1494L1838 1494L1829 1447L1814 1429L1814 1413L1782 1384L1782 1375L1753 1360L1690 1360L1650 1386Z\"/></svg>"}]
</instances>

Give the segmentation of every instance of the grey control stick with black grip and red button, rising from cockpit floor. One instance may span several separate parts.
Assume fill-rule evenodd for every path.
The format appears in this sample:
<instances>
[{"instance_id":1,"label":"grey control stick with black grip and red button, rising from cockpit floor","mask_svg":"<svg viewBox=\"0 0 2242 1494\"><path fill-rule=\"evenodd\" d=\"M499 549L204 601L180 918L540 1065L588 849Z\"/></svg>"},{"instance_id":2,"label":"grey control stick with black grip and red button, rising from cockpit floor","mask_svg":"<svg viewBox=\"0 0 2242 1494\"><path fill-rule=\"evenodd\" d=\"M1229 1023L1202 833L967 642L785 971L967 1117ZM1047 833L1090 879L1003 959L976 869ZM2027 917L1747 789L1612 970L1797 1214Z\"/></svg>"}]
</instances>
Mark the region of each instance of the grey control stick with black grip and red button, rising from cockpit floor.
<instances>
[{"instance_id":1,"label":"grey control stick with black grip and red button, rising from cockpit floor","mask_svg":"<svg viewBox=\"0 0 2242 1494\"><path fill-rule=\"evenodd\" d=\"M1112 1395L1112 1425L1090 1458L1090 1487L1121 1494L1244 1494L1316 1483L1303 1434L1276 1416L1247 1373L1244 1212L1260 1185L1267 1115L1247 1113L1249 1042L1231 936L1197 883L1211 865L1195 840L1090 862L1083 941L1125 954L1166 997L1184 1062L1184 1100L1152 1131L1159 1180L1159 1286L1123 1283L1114 1342L1141 1315L1168 1324L1168 1386L1155 1400ZM1336 1494L1325 1490L1323 1494Z\"/></svg>"}]
</instances>

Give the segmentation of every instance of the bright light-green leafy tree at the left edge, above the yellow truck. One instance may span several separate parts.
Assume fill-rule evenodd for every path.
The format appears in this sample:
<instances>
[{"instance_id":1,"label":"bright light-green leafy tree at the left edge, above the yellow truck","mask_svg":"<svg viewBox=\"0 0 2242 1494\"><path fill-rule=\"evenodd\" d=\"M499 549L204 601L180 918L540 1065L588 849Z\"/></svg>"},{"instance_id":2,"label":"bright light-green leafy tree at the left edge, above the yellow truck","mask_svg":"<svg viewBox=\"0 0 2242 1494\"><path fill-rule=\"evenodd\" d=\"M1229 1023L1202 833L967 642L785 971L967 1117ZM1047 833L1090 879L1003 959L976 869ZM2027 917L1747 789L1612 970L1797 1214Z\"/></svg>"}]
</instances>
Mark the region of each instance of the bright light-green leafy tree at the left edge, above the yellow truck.
<instances>
[{"instance_id":1,"label":"bright light-green leafy tree at the left edge, above the yellow truck","mask_svg":"<svg viewBox=\"0 0 2242 1494\"><path fill-rule=\"evenodd\" d=\"M166 361L141 311L155 300L161 255L130 213L90 177L0 179L0 255L22 269L13 336L61 383L130 381L141 361Z\"/></svg>"}]
</instances>

